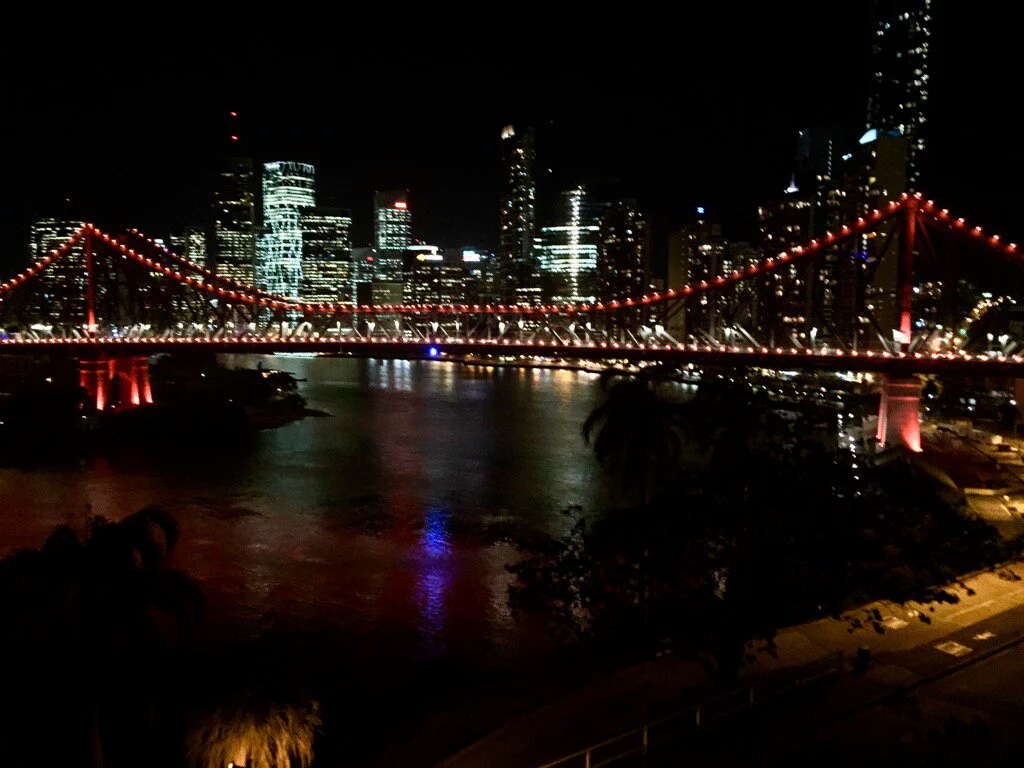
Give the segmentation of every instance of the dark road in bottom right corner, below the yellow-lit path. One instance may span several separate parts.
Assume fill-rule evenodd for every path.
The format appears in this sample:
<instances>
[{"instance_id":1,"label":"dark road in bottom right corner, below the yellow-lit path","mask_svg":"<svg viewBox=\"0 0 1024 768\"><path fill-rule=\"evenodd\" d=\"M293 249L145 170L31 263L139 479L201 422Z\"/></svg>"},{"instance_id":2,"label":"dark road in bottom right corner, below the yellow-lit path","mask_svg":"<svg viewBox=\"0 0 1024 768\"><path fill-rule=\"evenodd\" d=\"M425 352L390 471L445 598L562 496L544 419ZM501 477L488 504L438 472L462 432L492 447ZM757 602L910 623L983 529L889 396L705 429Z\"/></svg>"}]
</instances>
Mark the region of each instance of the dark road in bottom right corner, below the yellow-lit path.
<instances>
[{"instance_id":1,"label":"dark road in bottom right corner, below the yellow-lit path","mask_svg":"<svg viewBox=\"0 0 1024 768\"><path fill-rule=\"evenodd\" d=\"M1022 620L1024 608L1014 608L884 654L865 674L733 732L732 743L745 745L733 755L772 767L1002 765L1024 746Z\"/></svg>"}]
</instances>

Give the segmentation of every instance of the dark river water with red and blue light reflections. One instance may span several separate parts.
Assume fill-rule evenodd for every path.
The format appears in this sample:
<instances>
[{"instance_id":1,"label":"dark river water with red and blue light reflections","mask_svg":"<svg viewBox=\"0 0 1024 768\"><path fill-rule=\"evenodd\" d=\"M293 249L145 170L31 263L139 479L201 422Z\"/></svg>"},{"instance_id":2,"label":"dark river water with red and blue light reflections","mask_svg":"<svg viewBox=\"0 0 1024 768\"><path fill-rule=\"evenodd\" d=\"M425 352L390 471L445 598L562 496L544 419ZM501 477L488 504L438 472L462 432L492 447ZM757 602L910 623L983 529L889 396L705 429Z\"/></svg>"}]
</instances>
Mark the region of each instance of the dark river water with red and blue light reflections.
<instances>
[{"instance_id":1,"label":"dark river water with red and blue light reflections","mask_svg":"<svg viewBox=\"0 0 1024 768\"><path fill-rule=\"evenodd\" d=\"M256 357L224 358L255 367ZM0 469L0 554L89 512L150 504L182 528L211 631L337 633L395 663L500 660L546 642L507 607L488 527L558 532L607 489L581 437L595 375L443 361L266 357L327 415L78 468Z\"/></svg>"}]
</instances>

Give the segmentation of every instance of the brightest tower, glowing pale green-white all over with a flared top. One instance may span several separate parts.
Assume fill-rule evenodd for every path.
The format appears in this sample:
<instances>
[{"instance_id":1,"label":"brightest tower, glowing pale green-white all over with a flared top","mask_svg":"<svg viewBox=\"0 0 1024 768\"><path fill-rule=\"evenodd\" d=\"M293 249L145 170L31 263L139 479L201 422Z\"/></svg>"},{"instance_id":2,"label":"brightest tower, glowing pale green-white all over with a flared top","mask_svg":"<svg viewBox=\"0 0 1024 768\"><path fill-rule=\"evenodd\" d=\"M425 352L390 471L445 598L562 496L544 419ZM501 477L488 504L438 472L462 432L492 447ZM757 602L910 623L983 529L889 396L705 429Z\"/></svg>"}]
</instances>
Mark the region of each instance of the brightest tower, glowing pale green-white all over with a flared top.
<instances>
[{"instance_id":1,"label":"brightest tower, glowing pale green-white all over with a flared top","mask_svg":"<svg viewBox=\"0 0 1024 768\"><path fill-rule=\"evenodd\" d=\"M305 163L263 166L263 233L256 279L270 293L298 296L302 287L303 209L314 202L314 169Z\"/></svg>"}]
</instances>

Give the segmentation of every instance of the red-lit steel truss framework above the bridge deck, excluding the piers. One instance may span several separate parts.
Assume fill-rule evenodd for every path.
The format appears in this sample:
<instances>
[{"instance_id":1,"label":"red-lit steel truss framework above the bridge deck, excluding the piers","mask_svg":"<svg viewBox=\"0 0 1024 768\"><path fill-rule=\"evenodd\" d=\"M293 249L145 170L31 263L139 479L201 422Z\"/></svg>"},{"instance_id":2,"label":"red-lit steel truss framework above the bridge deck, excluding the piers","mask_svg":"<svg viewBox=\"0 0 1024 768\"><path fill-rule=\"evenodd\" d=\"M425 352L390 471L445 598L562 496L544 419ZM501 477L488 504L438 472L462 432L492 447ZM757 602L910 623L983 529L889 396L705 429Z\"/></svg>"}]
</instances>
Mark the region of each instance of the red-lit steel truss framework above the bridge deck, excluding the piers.
<instances>
[{"instance_id":1,"label":"red-lit steel truss framework above the bridge deck, excluding the piers","mask_svg":"<svg viewBox=\"0 0 1024 768\"><path fill-rule=\"evenodd\" d=\"M811 329L836 349L856 351L858 328L870 348L927 348L934 329L910 327L914 255L937 264L948 286L943 311L955 314L952 259L931 231L953 232L1002 256L1016 244L985 236L920 196L904 195L820 240L721 274L623 301L581 305L310 304L243 286L172 253L140 231L82 227L46 258L0 284L0 325L18 338L308 339L509 345L672 344L804 350ZM881 240L872 263L855 273L852 301L825 315L821 274L835 272L865 239ZM877 241L878 242L878 241ZM888 294L872 294L879 270L892 270ZM810 288L809 288L810 287ZM880 300L882 295L884 300ZM945 316L945 315L943 315ZM844 327L845 324L845 327ZM851 325L852 324L852 325ZM898 334L892 334L893 330ZM808 342L808 332L810 341Z\"/></svg>"}]
</instances>

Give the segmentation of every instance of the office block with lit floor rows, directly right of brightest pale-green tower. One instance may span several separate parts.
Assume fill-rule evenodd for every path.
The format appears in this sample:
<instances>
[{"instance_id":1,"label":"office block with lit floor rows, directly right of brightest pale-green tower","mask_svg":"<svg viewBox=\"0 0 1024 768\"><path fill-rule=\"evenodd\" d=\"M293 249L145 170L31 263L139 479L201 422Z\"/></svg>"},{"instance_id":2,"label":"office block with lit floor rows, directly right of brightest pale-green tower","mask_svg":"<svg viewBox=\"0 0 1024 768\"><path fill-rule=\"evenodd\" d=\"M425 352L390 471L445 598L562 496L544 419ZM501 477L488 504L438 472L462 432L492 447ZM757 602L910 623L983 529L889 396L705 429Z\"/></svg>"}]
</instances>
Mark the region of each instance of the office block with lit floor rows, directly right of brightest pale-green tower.
<instances>
[{"instance_id":1,"label":"office block with lit floor rows, directly right of brightest pale-green tower","mask_svg":"<svg viewBox=\"0 0 1024 768\"><path fill-rule=\"evenodd\" d=\"M310 302L354 302L352 217L341 208L306 208L302 226L300 296Z\"/></svg>"}]
</instances>

